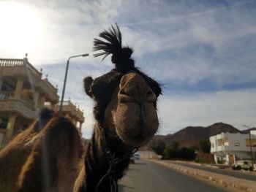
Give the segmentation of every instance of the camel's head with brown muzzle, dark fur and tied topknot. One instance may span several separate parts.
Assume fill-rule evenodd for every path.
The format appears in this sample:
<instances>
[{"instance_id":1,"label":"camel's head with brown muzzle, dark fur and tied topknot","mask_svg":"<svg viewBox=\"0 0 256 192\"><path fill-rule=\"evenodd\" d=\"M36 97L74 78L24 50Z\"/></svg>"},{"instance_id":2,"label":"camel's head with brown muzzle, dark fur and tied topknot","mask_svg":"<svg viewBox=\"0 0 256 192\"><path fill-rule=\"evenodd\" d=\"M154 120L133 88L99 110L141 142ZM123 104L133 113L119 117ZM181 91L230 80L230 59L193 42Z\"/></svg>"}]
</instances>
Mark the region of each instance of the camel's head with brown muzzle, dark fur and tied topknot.
<instances>
[{"instance_id":1,"label":"camel's head with brown muzzle, dark fur and tied topknot","mask_svg":"<svg viewBox=\"0 0 256 192\"><path fill-rule=\"evenodd\" d=\"M94 39L94 50L103 50L94 56L112 54L115 68L94 80L84 79L85 91L95 101L94 116L108 138L140 147L157 132L157 97L161 88L135 67L132 49L121 46L118 26L103 31L99 37L106 42Z\"/></svg>"}]
</instances>

